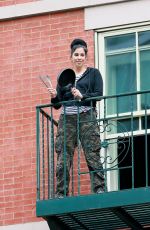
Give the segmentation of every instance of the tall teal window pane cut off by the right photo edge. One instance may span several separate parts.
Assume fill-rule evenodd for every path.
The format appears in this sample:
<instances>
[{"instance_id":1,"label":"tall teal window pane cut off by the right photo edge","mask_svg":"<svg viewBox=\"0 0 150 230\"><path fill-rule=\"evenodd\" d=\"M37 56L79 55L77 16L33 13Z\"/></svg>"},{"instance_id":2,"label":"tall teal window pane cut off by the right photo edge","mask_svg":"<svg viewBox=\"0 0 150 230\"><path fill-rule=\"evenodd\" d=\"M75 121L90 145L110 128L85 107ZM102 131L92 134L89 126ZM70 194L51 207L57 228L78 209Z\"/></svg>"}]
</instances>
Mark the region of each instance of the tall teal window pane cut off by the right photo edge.
<instances>
[{"instance_id":1,"label":"tall teal window pane cut off by the right photo edge","mask_svg":"<svg viewBox=\"0 0 150 230\"><path fill-rule=\"evenodd\" d=\"M150 50L140 52L140 90L150 89ZM142 95L141 108L150 108L150 94Z\"/></svg>"}]
</instances>

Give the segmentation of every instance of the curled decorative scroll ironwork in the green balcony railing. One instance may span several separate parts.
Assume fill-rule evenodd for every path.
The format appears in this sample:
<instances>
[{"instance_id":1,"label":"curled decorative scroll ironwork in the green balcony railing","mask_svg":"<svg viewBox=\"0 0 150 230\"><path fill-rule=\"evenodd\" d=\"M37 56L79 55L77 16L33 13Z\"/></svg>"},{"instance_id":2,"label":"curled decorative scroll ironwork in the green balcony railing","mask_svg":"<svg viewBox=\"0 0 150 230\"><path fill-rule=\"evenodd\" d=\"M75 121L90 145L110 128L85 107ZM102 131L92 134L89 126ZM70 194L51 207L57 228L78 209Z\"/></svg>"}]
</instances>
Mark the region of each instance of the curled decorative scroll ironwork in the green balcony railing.
<instances>
[{"instance_id":1,"label":"curled decorative scroll ironwork in the green balcony railing","mask_svg":"<svg viewBox=\"0 0 150 230\"><path fill-rule=\"evenodd\" d=\"M85 131L82 138L87 138L89 132L95 131L95 123L91 123L88 130ZM86 151L91 152L94 149L104 148L104 154L101 155L100 159L102 164L106 165L107 169L119 167L121 162L127 157L130 150L130 135L125 125L118 120L103 121L103 124L99 125L100 136L103 133L105 139L100 139L100 142L96 146L95 142L93 145L87 144ZM109 138L111 134L114 134L114 138ZM116 145L117 154L113 153L113 145Z\"/></svg>"}]
</instances>

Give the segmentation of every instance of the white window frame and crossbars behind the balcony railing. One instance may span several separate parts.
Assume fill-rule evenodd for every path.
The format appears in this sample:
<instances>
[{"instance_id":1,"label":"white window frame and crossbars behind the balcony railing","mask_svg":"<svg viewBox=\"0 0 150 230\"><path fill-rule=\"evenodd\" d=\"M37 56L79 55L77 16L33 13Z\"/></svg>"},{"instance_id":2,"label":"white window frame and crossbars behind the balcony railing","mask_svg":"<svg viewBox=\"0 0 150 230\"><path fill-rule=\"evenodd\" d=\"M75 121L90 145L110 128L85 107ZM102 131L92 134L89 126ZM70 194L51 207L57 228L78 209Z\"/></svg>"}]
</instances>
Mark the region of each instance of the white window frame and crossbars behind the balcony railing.
<instances>
[{"instance_id":1,"label":"white window frame and crossbars behind the balcony railing","mask_svg":"<svg viewBox=\"0 0 150 230\"><path fill-rule=\"evenodd\" d=\"M106 95L106 59L105 59L105 44L104 44L104 38L107 36L115 36L115 35L121 35L121 34L127 34L127 33L138 33L140 31L148 31L150 30L150 23L147 24L135 24L135 25L129 25L129 26L119 26L119 27L113 27L113 28L106 28L106 29L99 29L95 31L95 66L100 70L103 82L104 82L104 95ZM137 39L137 35L136 35ZM137 40L136 40L137 43ZM136 62L138 60L139 62L139 52L137 52L138 47L136 46ZM136 65L136 77L137 77L137 84L138 88L140 87L140 69L138 69L139 65ZM137 98L137 105L140 104L140 98ZM102 100L98 104L98 111L100 113L100 117L104 116L104 100ZM125 114L124 114L125 115ZM126 113L126 115L129 115L129 112ZM144 111L138 110L133 112L134 117L142 117L144 115ZM150 115L150 110L147 110L147 115ZM107 116L108 117L108 116ZM111 116L110 116L111 117ZM103 125L103 124L101 124ZM150 133L150 129L147 130L147 134ZM131 131L124 133L124 136L140 136L145 135L144 129L141 129L139 127L138 131ZM121 136L121 133L115 133L115 134L108 134L107 132L101 133L101 141L106 141L109 143L111 140L115 140L118 136ZM112 146L112 145L111 145ZM102 148L101 149L101 156L113 156L114 158L117 156L117 146L114 145L114 149L111 149L111 146L108 146L108 148ZM105 165L107 168L107 164ZM109 168L109 165L108 165ZM107 178L107 188L108 191L116 191L119 189L119 174L118 174L118 166L116 165L114 170L108 170L106 173Z\"/></svg>"}]
</instances>

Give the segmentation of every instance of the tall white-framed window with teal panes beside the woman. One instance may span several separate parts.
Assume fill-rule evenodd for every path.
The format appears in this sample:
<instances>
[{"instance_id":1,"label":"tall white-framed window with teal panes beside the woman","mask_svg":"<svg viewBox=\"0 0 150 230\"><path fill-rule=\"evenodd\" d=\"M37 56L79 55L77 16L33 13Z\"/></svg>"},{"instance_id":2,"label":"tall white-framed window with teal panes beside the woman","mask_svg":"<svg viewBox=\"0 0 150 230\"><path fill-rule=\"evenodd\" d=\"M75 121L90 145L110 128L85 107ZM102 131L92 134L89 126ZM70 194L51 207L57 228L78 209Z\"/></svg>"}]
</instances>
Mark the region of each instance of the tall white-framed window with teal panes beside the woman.
<instances>
[{"instance_id":1,"label":"tall white-framed window with teal panes beside the woman","mask_svg":"<svg viewBox=\"0 0 150 230\"><path fill-rule=\"evenodd\" d=\"M98 67L105 95L150 90L150 26L102 32L97 37ZM106 124L112 125L101 135L102 141L108 143L101 151L110 159L106 165L108 188L143 187L146 185L145 162L150 159L150 148L145 146L145 140L147 143L150 140L150 93L110 97L105 105L106 117L110 118ZM120 134L124 135L123 142ZM121 143L123 148L119 146ZM121 167L124 170L120 170Z\"/></svg>"}]
</instances>

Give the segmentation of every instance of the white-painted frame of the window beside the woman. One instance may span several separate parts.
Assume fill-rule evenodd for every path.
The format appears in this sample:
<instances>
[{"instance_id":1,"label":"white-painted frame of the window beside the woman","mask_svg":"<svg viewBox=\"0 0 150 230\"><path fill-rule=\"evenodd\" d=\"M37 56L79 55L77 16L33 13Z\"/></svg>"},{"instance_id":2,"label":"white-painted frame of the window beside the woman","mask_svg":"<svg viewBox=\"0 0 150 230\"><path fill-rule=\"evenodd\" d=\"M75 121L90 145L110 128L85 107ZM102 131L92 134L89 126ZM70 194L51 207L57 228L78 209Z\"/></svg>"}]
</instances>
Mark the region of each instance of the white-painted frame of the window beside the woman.
<instances>
[{"instance_id":1,"label":"white-painted frame of the window beside the woman","mask_svg":"<svg viewBox=\"0 0 150 230\"><path fill-rule=\"evenodd\" d=\"M107 29L103 29L103 30L97 30L95 31L95 65L96 67L100 70L102 77L103 77L103 82L104 82L104 95L106 94L106 59L105 59L105 46L104 46L104 38L108 37L108 36L115 36L115 35L121 35L121 34L127 34L127 33L138 33L140 31L148 31L150 30L150 23L147 24L135 24L132 25L132 27L127 27L127 26L122 26L122 27L114 27L114 28L107 28ZM137 36L136 36L137 37ZM137 50L136 50L137 51ZM136 52L136 60L139 62L139 55L138 52ZM136 65L137 69L137 80L139 81L140 79L140 70L138 65ZM139 99L138 99L139 100ZM137 101L137 104L139 104L140 101ZM104 101L102 100L100 102L101 106L98 109L98 111L100 111L101 113L101 117L104 114ZM136 111L133 113L135 117L140 117L144 114L143 111ZM150 110L147 111L147 114L150 114ZM128 115L128 113L127 113ZM148 133L150 133L150 129L147 130ZM133 135L141 135L144 134L144 130L138 130L138 131L134 131ZM102 140L107 140L107 139L114 139L117 136L119 136L120 134L105 134L102 133L101 134L101 139ZM131 135L131 132L126 133L125 135ZM116 146L114 146L114 148L116 148ZM106 151L107 149L102 148L101 149L101 155L102 156L106 156ZM108 150L109 151L109 150ZM110 149L111 152L111 149ZM107 166L106 166L107 167ZM117 167L117 166L116 166ZM116 168L117 169L117 168ZM108 187L108 191L115 191L118 190L118 171L114 170L114 171L108 171L107 172L107 187Z\"/></svg>"}]
</instances>

